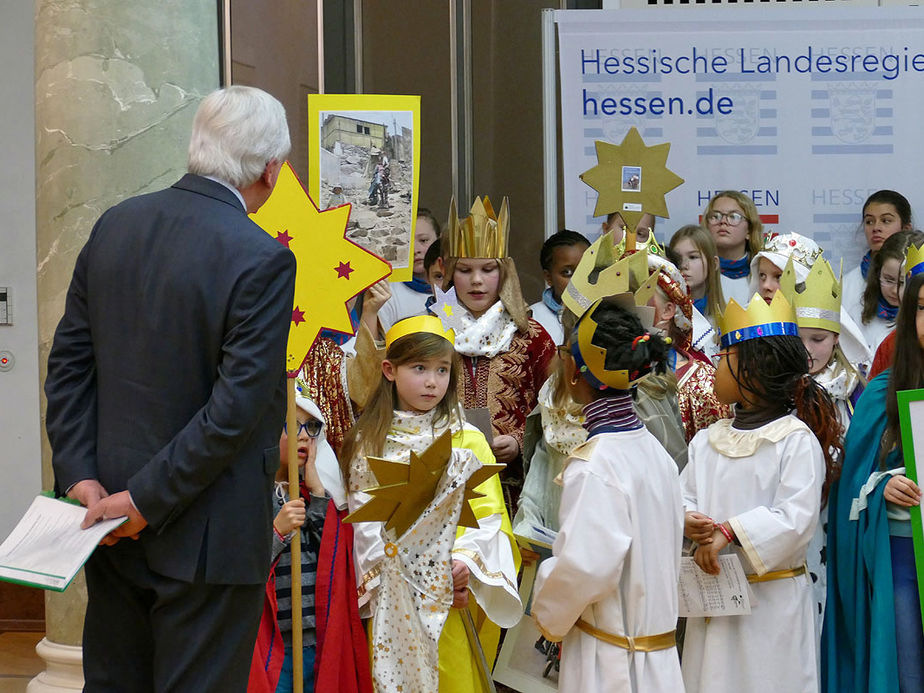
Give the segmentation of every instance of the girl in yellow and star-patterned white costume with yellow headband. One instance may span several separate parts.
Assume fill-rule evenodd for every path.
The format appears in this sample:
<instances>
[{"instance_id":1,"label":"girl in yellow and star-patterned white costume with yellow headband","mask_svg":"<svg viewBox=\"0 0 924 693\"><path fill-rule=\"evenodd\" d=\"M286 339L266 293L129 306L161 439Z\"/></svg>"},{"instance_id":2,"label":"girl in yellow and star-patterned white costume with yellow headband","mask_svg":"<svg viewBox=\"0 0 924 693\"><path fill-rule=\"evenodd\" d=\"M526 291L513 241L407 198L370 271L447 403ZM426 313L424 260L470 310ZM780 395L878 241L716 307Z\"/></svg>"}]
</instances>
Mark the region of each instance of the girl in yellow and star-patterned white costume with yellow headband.
<instances>
[{"instance_id":1,"label":"girl in yellow and star-patterned white costume with yellow headband","mask_svg":"<svg viewBox=\"0 0 924 693\"><path fill-rule=\"evenodd\" d=\"M388 331L378 389L341 456L356 521L375 497L368 492L377 484L374 458L410 459L413 467L413 456L425 458L434 441L447 432L452 436L434 501L407 531L396 529L395 538L387 523L354 525L360 609L372 618L372 672L379 691L485 690L499 626L515 625L522 611L516 588L520 557L497 475L481 482L478 497L468 500L467 486L484 476L473 470L491 465L494 456L460 410L452 340L452 331L433 316L407 318ZM469 503L473 525L457 529L471 514ZM469 591L475 604L469 604Z\"/></svg>"}]
</instances>

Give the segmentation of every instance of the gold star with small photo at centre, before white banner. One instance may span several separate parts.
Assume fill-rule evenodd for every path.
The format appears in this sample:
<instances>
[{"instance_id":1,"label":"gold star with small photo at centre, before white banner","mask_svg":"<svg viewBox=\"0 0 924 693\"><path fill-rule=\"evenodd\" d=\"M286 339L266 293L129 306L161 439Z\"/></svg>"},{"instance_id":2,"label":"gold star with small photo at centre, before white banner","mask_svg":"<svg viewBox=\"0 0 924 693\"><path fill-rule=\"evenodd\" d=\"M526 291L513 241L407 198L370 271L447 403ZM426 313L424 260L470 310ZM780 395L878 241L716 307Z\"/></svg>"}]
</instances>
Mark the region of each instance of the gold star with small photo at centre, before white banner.
<instances>
[{"instance_id":1,"label":"gold star with small photo at centre, before white banner","mask_svg":"<svg viewBox=\"0 0 924 693\"><path fill-rule=\"evenodd\" d=\"M597 191L594 216L619 212L634 229L646 212L668 218L665 195L683 183L667 168L670 142L646 147L636 128L621 144L597 140L597 165L581 174L581 180Z\"/></svg>"}]
</instances>

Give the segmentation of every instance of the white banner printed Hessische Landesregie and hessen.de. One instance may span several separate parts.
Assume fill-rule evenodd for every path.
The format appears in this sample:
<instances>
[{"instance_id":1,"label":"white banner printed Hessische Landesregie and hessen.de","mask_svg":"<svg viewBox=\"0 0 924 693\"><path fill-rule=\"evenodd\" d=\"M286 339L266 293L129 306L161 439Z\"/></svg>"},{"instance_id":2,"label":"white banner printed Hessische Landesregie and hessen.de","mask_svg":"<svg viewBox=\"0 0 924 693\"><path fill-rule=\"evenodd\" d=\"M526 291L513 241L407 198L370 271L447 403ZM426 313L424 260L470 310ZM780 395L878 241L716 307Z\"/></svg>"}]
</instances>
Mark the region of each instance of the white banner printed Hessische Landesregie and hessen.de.
<instances>
[{"instance_id":1,"label":"white banner printed Hessische Landesregie and hessen.de","mask_svg":"<svg viewBox=\"0 0 924 693\"><path fill-rule=\"evenodd\" d=\"M565 225L599 234L578 178L594 141L633 125L685 183L658 239L741 190L765 230L813 237L844 271L866 250L861 211L881 188L924 217L924 13L825 5L556 13ZM917 225L917 224L916 224Z\"/></svg>"}]
</instances>

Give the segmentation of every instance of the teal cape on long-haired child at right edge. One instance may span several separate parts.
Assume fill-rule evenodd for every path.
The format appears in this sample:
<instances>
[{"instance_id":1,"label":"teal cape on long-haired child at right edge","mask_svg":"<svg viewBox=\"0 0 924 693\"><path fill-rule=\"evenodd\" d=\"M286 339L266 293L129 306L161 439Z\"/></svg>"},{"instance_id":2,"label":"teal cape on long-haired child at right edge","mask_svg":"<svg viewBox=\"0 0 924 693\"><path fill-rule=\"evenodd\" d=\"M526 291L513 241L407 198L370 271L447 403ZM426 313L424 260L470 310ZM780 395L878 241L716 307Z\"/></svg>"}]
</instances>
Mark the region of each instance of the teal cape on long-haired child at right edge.
<instances>
[{"instance_id":1,"label":"teal cape on long-haired child at right edge","mask_svg":"<svg viewBox=\"0 0 924 693\"><path fill-rule=\"evenodd\" d=\"M889 375L886 370L873 379L857 402L841 478L829 499L828 598L821 640L822 690L828 693L898 693L885 483L869 495L859 519L850 519L853 499L880 469ZM893 450L886 466L900 465L900 453Z\"/></svg>"}]
</instances>

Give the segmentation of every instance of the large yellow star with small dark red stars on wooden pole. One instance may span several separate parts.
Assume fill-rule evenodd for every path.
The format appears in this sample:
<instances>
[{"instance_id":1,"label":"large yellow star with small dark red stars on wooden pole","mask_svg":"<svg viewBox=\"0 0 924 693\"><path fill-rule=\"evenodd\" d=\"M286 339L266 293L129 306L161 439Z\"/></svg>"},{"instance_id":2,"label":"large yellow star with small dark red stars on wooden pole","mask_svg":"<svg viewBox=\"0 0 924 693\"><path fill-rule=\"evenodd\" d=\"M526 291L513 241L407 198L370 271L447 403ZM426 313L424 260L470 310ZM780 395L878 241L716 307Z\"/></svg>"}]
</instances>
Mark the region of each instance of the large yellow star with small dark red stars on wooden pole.
<instances>
[{"instance_id":1,"label":"large yellow star with small dark red stars on wooden pole","mask_svg":"<svg viewBox=\"0 0 924 693\"><path fill-rule=\"evenodd\" d=\"M353 334L347 302L391 274L391 265L346 238L350 205L319 211L288 162L273 194L250 217L298 263L286 348L286 370L294 375L322 329Z\"/></svg>"}]
</instances>

